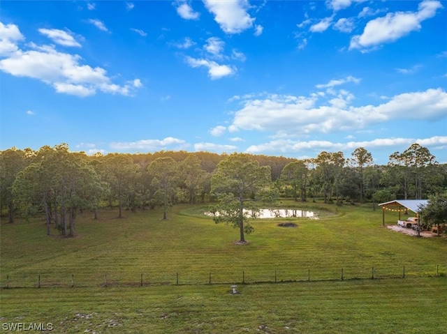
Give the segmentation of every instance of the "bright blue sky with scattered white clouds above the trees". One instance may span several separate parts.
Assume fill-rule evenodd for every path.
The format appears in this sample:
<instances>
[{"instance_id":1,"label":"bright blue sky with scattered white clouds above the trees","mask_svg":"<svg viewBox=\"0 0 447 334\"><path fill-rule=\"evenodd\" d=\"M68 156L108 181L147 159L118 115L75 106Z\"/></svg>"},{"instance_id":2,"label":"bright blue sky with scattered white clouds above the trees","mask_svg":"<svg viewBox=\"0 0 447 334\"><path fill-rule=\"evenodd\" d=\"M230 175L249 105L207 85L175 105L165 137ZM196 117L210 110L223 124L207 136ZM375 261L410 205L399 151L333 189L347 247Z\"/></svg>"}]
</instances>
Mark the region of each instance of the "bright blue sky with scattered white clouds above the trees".
<instances>
[{"instance_id":1,"label":"bright blue sky with scattered white clouds above the trees","mask_svg":"<svg viewBox=\"0 0 447 334\"><path fill-rule=\"evenodd\" d=\"M0 149L447 162L447 2L2 1Z\"/></svg>"}]
</instances>

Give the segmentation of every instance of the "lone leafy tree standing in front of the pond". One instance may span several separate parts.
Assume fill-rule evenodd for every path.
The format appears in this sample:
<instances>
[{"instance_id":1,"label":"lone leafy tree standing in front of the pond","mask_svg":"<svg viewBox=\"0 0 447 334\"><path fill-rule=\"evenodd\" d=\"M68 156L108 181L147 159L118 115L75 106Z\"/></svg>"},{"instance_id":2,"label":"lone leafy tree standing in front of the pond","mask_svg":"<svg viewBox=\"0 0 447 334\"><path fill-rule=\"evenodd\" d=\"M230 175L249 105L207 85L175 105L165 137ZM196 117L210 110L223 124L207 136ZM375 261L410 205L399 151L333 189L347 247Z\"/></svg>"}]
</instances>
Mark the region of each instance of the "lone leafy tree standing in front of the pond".
<instances>
[{"instance_id":1,"label":"lone leafy tree standing in front of the pond","mask_svg":"<svg viewBox=\"0 0 447 334\"><path fill-rule=\"evenodd\" d=\"M254 197L270 188L271 181L270 166L261 167L243 153L228 155L219 162L211 178L211 190L219 199L219 204L212 208L214 221L238 227L240 243L246 243L244 234L254 231L248 220L259 210Z\"/></svg>"}]
</instances>

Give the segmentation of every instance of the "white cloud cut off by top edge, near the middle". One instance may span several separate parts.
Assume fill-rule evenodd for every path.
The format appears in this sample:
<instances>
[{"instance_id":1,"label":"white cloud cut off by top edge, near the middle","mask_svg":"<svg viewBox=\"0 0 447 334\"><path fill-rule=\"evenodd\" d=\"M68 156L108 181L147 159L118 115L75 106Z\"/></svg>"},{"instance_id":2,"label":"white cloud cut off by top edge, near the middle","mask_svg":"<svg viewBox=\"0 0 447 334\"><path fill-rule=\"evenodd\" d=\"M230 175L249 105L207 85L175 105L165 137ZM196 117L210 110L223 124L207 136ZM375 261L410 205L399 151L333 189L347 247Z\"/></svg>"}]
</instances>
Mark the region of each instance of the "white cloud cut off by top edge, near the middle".
<instances>
[{"instance_id":1,"label":"white cloud cut off by top edge, near the middle","mask_svg":"<svg viewBox=\"0 0 447 334\"><path fill-rule=\"evenodd\" d=\"M240 33L253 26L254 18L247 13L247 0L203 0L205 7L225 33Z\"/></svg>"}]
</instances>

